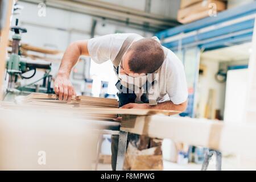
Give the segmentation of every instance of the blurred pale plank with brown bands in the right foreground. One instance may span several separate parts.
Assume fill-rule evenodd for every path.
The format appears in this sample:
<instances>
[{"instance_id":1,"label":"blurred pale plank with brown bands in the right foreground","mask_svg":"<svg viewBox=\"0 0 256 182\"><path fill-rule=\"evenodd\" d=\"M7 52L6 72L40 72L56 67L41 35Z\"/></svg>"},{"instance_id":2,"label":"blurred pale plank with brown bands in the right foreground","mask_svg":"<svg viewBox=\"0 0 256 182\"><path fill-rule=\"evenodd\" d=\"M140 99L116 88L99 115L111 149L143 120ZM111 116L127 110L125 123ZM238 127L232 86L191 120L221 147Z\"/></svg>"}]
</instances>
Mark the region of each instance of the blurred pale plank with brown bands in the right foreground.
<instances>
[{"instance_id":1,"label":"blurred pale plank with brown bands in the right foreground","mask_svg":"<svg viewBox=\"0 0 256 182\"><path fill-rule=\"evenodd\" d=\"M175 142L209 147L232 154L243 154L256 160L256 125L223 123L210 119L166 117L163 115L138 116L133 127L121 130L147 135L151 138L170 138ZM127 121L131 122L131 121Z\"/></svg>"}]
</instances>

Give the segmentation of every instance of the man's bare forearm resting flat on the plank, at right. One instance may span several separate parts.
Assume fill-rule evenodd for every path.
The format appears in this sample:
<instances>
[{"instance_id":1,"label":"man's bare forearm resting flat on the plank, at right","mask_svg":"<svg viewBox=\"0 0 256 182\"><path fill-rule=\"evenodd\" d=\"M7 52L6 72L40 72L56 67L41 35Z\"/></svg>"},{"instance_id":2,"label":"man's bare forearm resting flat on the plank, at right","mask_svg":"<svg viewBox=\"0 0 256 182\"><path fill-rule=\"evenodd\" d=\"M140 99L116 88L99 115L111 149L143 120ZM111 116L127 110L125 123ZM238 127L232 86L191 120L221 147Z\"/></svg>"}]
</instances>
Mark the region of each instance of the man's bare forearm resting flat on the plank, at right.
<instances>
[{"instance_id":1,"label":"man's bare forearm resting flat on the plank, at right","mask_svg":"<svg viewBox=\"0 0 256 182\"><path fill-rule=\"evenodd\" d=\"M182 113L187 109L187 101L179 105L175 105L171 101L166 101L166 102L158 103L158 105L155 105L155 106L150 106L150 108L162 109L162 110L175 110L175 111L180 111L180 113Z\"/></svg>"}]
</instances>

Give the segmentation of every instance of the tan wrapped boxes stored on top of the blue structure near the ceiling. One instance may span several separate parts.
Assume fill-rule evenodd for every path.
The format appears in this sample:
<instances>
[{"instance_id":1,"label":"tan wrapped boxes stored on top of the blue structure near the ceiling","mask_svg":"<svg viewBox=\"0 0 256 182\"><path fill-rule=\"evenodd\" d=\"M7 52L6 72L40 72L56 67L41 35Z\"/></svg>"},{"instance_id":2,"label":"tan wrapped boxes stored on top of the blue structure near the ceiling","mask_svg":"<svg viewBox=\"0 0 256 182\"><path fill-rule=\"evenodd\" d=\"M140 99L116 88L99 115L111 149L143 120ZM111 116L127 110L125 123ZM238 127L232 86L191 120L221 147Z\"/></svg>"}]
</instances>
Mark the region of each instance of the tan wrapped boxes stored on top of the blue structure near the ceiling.
<instances>
[{"instance_id":1,"label":"tan wrapped boxes stored on top of the blue structure near the ceiling","mask_svg":"<svg viewBox=\"0 0 256 182\"><path fill-rule=\"evenodd\" d=\"M180 23L191 23L195 20L214 16L226 9L224 0L181 0L177 20Z\"/></svg>"}]
</instances>

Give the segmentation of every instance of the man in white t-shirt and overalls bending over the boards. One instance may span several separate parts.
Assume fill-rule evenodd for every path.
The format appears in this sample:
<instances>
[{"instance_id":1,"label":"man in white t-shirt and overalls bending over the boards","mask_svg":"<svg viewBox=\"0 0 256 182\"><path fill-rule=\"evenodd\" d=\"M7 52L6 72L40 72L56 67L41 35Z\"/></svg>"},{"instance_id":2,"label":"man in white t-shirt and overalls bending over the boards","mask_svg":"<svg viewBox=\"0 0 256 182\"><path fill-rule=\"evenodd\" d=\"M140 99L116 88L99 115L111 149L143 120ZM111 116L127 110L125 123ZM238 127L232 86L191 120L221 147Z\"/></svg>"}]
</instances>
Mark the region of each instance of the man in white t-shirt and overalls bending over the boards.
<instances>
[{"instance_id":1,"label":"man in white t-shirt and overalls bending over the boards","mask_svg":"<svg viewBox=\"0 0 256 182\"><path fill-rule=\"evenodd\" d=\"M188 92L183 64L172 51L161 46L156 37L111 34L72 43L64 53L55 80L55 93L60 100L69 101L76 95L69 75L81 55L92 57L98 64L112 60L118 78L120 107L180 112L186 109ZM113 169L117 144L118 136L113 136Z\"/></svg>"}]
</instances>

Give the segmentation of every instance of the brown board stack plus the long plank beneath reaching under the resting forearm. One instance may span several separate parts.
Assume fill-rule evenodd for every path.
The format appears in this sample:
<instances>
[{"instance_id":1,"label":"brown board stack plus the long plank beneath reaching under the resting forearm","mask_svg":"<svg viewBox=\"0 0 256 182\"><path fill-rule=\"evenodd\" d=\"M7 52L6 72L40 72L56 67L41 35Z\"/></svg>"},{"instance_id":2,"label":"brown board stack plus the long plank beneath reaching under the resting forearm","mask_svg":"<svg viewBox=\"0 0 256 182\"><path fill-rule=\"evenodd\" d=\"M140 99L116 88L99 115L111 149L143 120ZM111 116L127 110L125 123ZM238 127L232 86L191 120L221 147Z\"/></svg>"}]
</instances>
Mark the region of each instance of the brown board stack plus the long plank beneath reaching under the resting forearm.
<instances>
[{"instance_id":1,"label":"brown board stack plus the long plank beneath reaching under the resting forearm","mask_svg":"<svg viewBox=\"0 0 256 182\"><path fill-rule=\"evenodd\" d=\"M179 111L159 109L119 109L118 101L113 98L77 96L71 101L59 101L56 94L32 93L20 100L26 105L46 106L70 110L80 110L86 114L126 114L126 115L154 115L177 114Z\"/></svg>"}]
</instances>

